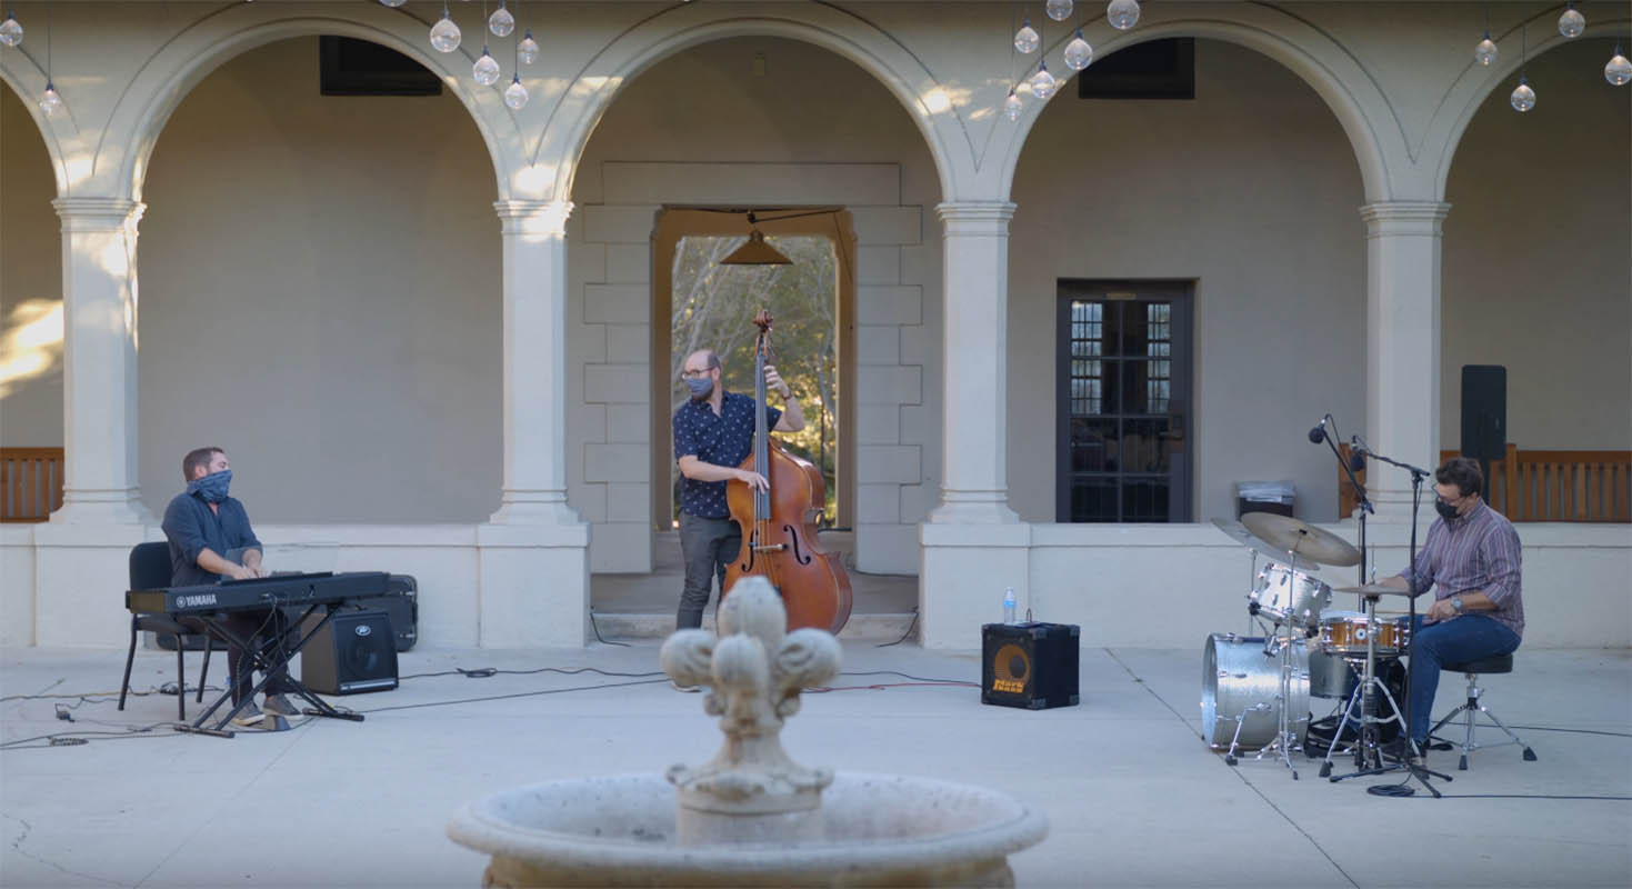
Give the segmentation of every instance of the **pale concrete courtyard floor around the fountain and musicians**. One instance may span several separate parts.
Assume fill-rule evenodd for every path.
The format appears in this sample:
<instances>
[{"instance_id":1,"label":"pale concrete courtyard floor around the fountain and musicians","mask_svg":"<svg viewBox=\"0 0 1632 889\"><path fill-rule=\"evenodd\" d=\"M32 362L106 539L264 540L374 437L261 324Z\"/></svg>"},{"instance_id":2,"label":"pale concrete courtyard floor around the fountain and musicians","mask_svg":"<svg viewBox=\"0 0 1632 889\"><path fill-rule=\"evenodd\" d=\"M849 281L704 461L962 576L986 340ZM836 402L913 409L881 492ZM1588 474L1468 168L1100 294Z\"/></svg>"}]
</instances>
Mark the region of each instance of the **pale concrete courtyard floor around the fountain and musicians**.
<instances>
[{"instance_id":1,"label":"pale concrete courtyard floor around the fountain and musicians","mask_svg":"<svg viewBox=\"0 0 1632 889\"><path fill-rule=\"evenodd\" d=\"M175 716L165 695L122 713L106 697L75 706L78 693L114 688L121 656L0 651L5 742L90 739L0 750L0 884L478 886L485 860L444 835L460 804L557 778L656 773L718 745L702 695L653 675L656 641L411 651L398 690L331 698L366 723L230 741L132 732ZM806 763L965 781L1041 807L1048 838L1012 858L1028 887L1632 884L1627 651L1521 649L1518 672L1488 679L1487 700L1510 724L1534 726L1519 734L1539 762L1501 747L1456 772L1456 755L1436 752L1430 765L1456 778L1438 785L1439 801L1368 794L1379 778L1332 785L1307 760L1297 781L1271 760L1226 765L1200 741L1200 644L1085 649L1080 706L1022 711L979 703L973 652L847 641L839 690L806 695L783 742ZM454 667L545 672L413 675ZM604 672L555 672L578 669ZM132 685L173 670L171 654L139 652ZM968 685L894 685L907 677ZM1461 698L1459 677L1446 680L1441 713ZM55 719L55 703L73 706L75 723Z\"/></svg>"}]
</instances>

